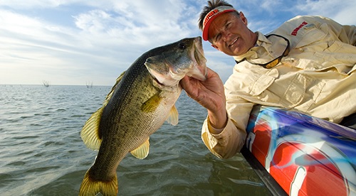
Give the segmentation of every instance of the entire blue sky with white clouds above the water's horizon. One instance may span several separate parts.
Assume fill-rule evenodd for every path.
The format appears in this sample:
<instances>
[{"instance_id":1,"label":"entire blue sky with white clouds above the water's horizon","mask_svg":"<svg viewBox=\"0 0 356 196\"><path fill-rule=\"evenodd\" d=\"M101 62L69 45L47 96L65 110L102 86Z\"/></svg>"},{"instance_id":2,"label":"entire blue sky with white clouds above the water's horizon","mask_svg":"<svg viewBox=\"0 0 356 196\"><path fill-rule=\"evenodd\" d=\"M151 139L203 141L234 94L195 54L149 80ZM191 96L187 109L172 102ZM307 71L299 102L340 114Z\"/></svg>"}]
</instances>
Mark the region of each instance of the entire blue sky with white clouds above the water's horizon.
<instances>
[{"instance_id":1,"label":"entire blue sky with white clouds above the water's horizon","mask_svg":"<svg viewBox=\"0 0 356 196\"><path fill-rule=\"evenodd\" d=\"M227 0L251 31L298 15L356 24L355 0ZM342 2L342 3L340 3ZM206 0L0 0L0 85L112 86L147 50L201 36ZM206 65L226 81L234 59L203 43Z\"/></svg>"}]
</instances>

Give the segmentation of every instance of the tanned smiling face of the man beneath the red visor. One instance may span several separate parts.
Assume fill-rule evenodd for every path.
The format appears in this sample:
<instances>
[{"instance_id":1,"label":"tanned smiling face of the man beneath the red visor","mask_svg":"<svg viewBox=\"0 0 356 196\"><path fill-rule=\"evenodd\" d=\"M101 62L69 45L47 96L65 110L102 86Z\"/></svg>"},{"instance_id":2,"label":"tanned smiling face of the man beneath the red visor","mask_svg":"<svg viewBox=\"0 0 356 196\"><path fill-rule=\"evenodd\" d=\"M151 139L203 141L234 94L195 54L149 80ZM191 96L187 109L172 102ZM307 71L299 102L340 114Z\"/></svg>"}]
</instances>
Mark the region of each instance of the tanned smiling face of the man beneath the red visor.
<instances>
[{"instance_id":1,"label":"tanned smiling face of the man beneath the red visor","mask_svg":"<svg viewBox=\"0 0 356 196\"><path fill-rule=\"evenodd\" d=\"M226 55L246 53L256 43L256 34L247 28L244 13L222 13L209 26L209 42Z\"/></svg>"}]
</instances>

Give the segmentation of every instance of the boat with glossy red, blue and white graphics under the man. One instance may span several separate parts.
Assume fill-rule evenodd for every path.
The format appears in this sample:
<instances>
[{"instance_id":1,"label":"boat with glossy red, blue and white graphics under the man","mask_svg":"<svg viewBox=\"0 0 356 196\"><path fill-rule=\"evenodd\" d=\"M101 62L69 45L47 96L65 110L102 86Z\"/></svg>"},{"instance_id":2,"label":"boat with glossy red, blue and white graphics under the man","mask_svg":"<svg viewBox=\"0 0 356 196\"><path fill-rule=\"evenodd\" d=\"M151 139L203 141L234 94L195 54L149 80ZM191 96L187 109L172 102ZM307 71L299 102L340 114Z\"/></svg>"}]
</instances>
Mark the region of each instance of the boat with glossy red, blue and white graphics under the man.
<instances>
[{"instance_id":1,"label":"boat with glossy red, blue and white graphics under the man","mask_svg":"<svg viewBox=\"0 0 356 196\"><path fill-rule=\"evenodd\" d=\"M272 195L356 195L356 130L254 107L241 153Z\"/></svg>"}]
</instances>

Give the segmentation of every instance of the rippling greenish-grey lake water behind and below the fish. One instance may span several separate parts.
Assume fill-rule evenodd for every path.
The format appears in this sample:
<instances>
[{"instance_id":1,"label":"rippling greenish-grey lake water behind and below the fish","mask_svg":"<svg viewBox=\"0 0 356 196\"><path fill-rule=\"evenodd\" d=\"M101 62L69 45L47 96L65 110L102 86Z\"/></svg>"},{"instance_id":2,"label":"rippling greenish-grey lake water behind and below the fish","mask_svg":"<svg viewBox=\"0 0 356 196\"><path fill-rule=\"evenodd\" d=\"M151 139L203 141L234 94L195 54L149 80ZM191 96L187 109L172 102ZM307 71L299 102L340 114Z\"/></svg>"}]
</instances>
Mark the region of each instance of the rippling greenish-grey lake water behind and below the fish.
<instances>
[{"instance_id":1,"label":"rippling greenish-grey lake water behind and below the fish","mask_svg":"<svg viewBox=\"0 0 356 196\"><path fill-rule=\"evenodd\" d=\"M111 87L1 85L1 195L78 195L96 151L80 130ZM241 155L213 156L200 138L206 111L183 92L179 124L150 137L150 154L117 168L119 195L269 195Z\"/></svg>"}]
</instances>

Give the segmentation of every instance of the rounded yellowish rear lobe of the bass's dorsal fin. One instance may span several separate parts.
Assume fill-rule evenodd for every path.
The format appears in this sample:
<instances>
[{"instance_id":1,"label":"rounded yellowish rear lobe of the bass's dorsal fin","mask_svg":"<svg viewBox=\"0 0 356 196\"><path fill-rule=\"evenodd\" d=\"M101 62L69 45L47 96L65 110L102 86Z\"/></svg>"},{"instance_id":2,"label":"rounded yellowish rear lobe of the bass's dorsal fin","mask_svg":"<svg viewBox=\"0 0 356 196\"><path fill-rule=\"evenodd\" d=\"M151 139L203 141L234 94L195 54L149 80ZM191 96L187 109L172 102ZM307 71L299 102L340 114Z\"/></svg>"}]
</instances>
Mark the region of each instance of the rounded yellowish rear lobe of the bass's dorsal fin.
<instances>
[{"instance_id":1,"label":"rounded yellowish rear lobe of the bass's dorsal fin","mask_svg":"<svg viewBox=\"0 0 356 196\"><path fill-rule=\"evenodd\" d=\"M80 131L80 137L82 138L85 146L92 150L99 150L101 144L101 138L99 133L99 124L101 115L103 114L104 107L95 111L90 116L88 121L85 122L82 131Z\"/></svg>"}]
</instances>

